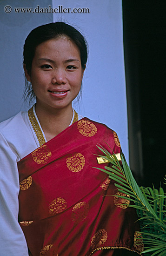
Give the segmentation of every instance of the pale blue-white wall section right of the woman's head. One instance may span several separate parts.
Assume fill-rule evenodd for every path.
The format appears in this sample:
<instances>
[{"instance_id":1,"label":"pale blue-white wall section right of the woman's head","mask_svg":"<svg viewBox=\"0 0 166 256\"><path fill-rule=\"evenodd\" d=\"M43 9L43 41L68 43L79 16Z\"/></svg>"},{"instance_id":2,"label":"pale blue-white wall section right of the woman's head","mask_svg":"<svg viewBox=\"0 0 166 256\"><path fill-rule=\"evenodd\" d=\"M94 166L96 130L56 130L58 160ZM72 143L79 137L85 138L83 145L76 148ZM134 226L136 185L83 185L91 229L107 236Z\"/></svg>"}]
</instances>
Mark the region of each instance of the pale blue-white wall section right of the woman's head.
<instances>
[{"instance_id":1,"label":"pale blue-white wall section right of the woman's head","mask_svg":"<svg viewBox=\"0 0 166 256\"><path fill-rule=\"evenodd\" d=\"M128 162L126 84L121 0L52 0L52 7L89 8L90 13L53 13L81 30L89 44L89 60L79 113L105 123L120 138ZM75 107L76 109L77 106Z\"/></svg>"}]
</instances>

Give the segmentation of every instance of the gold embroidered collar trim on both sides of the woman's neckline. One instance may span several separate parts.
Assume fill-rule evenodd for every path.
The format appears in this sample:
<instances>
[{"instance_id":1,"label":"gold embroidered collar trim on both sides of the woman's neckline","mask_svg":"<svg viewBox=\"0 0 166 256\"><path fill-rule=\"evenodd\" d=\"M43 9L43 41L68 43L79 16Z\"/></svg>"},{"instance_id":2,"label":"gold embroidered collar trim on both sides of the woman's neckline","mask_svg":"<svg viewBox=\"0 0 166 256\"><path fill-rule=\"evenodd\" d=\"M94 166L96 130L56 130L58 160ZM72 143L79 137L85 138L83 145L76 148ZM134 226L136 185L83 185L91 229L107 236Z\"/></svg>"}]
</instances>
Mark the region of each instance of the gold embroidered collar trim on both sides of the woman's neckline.
<instances>
[{"instance_id":1,"label":"gold embroidered collar trim on both sides of the woman's neckline","mask_svg":"<svg viewBox=\"0 0 166 256\"><path fill-rule=\"evenodd\" d=\"M42 146L44 143L46 143L46 141L45 141L44 135L40 129L38 121L36 120L36 117L33 113L33 107L28 110L28 117L29 117L29 121L31 122L31 125L33 127L33 130L37 136L37 139L39 141L39 145ZM74 119L73 119L72 124L77 122L78 120L79 120L79 116L78 116L77 112L74 110Z\"/></svg>"}]
</instances>

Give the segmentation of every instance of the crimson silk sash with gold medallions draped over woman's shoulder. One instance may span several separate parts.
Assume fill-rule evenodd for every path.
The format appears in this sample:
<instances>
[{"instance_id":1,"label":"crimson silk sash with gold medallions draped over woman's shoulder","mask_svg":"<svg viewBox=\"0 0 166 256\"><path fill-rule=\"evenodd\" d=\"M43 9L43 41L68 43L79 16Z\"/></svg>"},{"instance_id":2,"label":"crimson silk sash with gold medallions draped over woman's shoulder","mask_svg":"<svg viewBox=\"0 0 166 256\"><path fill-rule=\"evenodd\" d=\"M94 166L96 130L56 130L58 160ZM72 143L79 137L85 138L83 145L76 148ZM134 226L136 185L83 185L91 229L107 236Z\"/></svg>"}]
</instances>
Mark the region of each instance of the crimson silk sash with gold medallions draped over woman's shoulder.
<instances>
[{"instance_id":1,"label":"crimson silk sash with gold medallions draped over woman's shoulder","mask_svg":"<svg viewBox=\"0 0 166 256\"><path fill-rule=\"evenodd\" d=\"M19 222L30 256L141 251L135 210L124 206L114 182L93 168L107 165L97 163L98 143L110 154L120 153L113 130L83 118L18 162Z\"/></svg>"}]
</instances>

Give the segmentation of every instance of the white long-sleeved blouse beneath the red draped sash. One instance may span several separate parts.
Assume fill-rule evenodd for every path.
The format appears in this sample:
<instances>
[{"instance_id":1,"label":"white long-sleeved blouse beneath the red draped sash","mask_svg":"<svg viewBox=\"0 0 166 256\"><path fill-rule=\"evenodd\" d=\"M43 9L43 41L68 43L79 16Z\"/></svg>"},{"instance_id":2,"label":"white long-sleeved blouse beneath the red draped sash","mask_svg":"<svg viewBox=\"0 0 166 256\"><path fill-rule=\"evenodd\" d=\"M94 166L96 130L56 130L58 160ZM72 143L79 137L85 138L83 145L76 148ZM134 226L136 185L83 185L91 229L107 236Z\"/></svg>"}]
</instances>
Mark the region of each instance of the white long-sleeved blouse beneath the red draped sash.
<instances>
[{"instance_id":1,"label":"white long-sleeved blouse beneath the red draped sash","mask_svg":"<svg viewBox=\"0 0 166 256\"><path fill-rule=\"evenodd\" d=\"M33 113L40 126L34 106ZM82 116L78 115L78 119L81 118ZM73 119L74 115L70 125ZM41 126L40 129L46 141ZM17 162L39 147L28 112L19 112L0 123L0 255L2 256L28 256L26 239L18 222L20 184Z\"/></svg>"}]
</instances>

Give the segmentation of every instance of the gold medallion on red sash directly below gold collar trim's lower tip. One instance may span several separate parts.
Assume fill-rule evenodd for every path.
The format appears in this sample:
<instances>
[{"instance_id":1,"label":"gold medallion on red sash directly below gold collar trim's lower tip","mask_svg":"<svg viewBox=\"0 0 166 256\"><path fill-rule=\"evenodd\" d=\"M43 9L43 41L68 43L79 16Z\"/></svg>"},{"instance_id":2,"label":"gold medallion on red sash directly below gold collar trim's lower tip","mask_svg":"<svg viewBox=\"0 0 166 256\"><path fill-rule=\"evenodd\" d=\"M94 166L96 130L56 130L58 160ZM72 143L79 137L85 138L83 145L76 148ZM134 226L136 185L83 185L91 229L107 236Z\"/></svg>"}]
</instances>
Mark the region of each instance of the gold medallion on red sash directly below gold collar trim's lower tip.
<instances>
[{"instance_id":1,"label":"gold medallion on red sash directly below gold collar trim's lower tip","mask_svg":"<svg viewBox=\"0 0 166 256\"><path fill-rule=\"evenodd\" d=\"M31 155L33 161L37 164L45 164L50 160L52 153L46 145L42 145L40 148L35 149Z\"/></svg>"}]
</instances>

